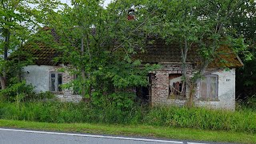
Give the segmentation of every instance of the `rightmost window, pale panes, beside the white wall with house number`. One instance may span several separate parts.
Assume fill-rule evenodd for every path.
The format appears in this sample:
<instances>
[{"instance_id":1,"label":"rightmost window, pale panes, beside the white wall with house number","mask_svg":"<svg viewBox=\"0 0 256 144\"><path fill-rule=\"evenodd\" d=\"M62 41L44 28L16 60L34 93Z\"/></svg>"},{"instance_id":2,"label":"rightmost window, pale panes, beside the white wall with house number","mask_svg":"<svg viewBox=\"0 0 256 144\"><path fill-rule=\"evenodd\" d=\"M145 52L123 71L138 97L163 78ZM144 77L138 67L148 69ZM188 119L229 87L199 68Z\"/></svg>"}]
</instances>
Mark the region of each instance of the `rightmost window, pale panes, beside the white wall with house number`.
<instances>
[{"instance_id":1,"label":"rightmost window, pale panes, beside the white wall with house number","mask_svg":"<svg viewBox=\"0 0 256 144\"><path fill-rule=\"evenodd\" d=\"M218 98L218 75L206 75L202 79L200 94L202 99Z\"/></svg>"}]
</instances>

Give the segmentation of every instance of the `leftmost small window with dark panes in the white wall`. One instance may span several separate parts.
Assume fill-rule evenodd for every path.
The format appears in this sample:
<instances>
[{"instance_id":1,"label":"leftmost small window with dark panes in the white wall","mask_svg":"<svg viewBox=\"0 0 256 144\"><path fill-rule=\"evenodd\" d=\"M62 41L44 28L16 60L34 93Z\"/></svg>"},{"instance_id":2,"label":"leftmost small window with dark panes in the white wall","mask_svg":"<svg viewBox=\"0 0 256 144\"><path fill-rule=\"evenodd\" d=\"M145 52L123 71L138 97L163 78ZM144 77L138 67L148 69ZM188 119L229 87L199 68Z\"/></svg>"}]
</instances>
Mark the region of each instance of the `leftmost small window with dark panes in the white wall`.
<instances>
[{"instance_id":1,"label":"leftmost small window with dark panes in the white wall","mask_svg":"<svg viewBox=\"0 0 256 144\"><path fill-rule=\"evenodd\" d=\"M59 92L62 91L62 73L50 73L50 91Z\"/></svg>"}]
</instances>

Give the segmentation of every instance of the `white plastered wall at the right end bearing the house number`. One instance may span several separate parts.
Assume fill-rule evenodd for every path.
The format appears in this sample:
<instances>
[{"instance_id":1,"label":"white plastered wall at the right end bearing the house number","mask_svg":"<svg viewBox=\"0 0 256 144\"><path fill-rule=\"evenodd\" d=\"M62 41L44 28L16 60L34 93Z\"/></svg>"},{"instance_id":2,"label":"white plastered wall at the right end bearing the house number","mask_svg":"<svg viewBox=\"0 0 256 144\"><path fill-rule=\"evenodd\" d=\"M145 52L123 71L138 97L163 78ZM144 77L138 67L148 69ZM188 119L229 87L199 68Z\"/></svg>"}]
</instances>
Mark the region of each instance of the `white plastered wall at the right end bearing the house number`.
<instances>
[{"instance_id":1,"label":"white plastered wall at the right end bearing the house number","mask_svg":"<svg viewBox=\"0 0 256 144\"><path fill-rule=\"evenodd\" d=\"M198 106L235 110L235 69L227 71L218 70L212 74L218 75L218 100L199 100L198 102L195 102L195 104Z\"/></svg>"}]
</instances>

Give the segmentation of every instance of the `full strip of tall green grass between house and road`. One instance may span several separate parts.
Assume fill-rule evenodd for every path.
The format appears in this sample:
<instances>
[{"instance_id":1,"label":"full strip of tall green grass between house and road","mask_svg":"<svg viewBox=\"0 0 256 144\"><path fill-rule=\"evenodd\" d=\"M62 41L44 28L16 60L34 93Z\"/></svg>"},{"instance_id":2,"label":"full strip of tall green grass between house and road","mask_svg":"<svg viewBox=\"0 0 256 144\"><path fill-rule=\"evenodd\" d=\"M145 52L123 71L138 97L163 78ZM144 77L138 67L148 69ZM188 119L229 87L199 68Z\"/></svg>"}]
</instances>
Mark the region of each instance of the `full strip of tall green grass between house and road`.
<instances>
[{"instance_id":1,"label":"full strip of tall green grass between house and road","mask_svg":"<svg viewBox=\"0 0 256 144\"><path fill-rule=\"evenodd\" d=\"M117 106L91 106L85 103L25 102L0 103L0 118L35 122L101 122L146 124L203 130L256 132L254 110L208 110L175 106L120 109Z\"/></svg>"}]
</instances>

